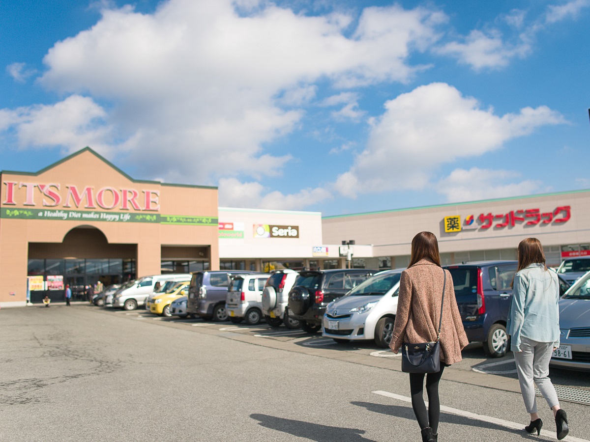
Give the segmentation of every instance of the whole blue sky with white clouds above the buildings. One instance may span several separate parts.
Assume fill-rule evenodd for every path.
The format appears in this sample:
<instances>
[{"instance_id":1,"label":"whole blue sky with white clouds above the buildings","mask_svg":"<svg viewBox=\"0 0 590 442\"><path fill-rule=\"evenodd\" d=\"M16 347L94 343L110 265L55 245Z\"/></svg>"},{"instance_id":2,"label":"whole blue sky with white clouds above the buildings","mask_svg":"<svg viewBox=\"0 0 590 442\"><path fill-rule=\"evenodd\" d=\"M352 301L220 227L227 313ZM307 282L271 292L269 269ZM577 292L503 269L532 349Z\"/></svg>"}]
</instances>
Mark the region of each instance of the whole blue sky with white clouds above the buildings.
<instances>
[{"instance_id":1,"label":"whole blue sky with white clouds above the buildings","mask_svg":"<svg viewBox=\"0 0 590 442\"><path fill-rule=\"evenodd\" d=\"M590 0L0 0L0 169L90 146L228 207L590 188Z\"/></svg>"}]
</instances>

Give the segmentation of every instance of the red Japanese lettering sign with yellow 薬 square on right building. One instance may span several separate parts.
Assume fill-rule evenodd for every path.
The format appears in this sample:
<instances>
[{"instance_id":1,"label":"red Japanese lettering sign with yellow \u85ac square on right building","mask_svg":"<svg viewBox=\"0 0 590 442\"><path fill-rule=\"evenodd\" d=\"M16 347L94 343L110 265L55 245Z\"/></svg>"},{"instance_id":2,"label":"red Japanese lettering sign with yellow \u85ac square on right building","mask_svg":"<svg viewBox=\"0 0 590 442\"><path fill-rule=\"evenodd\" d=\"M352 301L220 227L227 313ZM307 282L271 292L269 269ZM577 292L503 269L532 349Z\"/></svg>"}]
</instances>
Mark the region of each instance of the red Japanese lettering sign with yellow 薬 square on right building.
<instances>
[{"instance_id":1,"label":"red Japanese lettering sign with yellow \u85ac square on right building","mask_svg":"<svg viewBox=\"0 0 590 442\"><path fill-rule=\"evenodd\" d=\"M517 224L525 226L536 225L559 225L568 222L572 217L571 206L559 206L552 212L541 212L539 209L520 209L510 210L508 213L480 213L477 217L477 224L474 215L466 217L461 225L461 216L445 216L444 231L446 233L461 232L461 230L487 230L494 227L494 230L504 229L504 227L514 227Z\"/></svg>"}]
</instances>

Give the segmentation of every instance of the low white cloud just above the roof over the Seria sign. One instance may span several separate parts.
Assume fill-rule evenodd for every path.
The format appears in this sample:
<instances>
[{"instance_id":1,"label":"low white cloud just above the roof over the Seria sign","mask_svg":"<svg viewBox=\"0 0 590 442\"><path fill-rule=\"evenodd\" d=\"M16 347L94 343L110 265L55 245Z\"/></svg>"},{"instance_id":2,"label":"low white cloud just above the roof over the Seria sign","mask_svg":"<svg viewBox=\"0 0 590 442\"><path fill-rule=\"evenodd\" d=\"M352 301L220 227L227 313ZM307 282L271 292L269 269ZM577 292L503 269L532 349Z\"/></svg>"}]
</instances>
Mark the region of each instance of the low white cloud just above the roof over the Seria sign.
<instances>
[{"instance_id":1,"label":"low white cloud just above the roof over the Seria sign","mask_svg":"<svg viewBox=\"0 0 590 442\"><path fill-rule=\"evenodd\" d=\"M225 207L297 210L331 198L332 194L321 187L283 194L277 190L269 191L257 182L241 183L235 178L219 180L219 205Z\"/></svg>"}]
</instances>

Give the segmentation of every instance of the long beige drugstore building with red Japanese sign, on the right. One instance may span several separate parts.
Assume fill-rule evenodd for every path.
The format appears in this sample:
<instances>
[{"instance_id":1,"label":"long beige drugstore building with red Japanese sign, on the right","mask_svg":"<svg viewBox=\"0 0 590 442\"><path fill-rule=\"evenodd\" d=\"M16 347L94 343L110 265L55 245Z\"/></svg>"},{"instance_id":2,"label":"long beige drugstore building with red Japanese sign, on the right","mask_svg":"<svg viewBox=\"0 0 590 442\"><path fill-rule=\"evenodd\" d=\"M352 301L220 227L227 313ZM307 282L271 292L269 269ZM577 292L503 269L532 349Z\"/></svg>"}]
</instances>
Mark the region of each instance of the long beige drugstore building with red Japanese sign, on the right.
<instances>
[{"instance_id":1,"label":"long beige drugstore building with red Japanese sign, on the right","mask_svg":"<svg viewBox=\"0 0 590 442\"><path fill-rule=\"evenodd\" d=\"M590 191L383 210L322 219L324 242L349 238L372 245L380 268L408 265L411 242L427 230L438 238L443 264L516 259L520 240L535 237L548 265L590 255Z\"/></svg>"}]
</instances>

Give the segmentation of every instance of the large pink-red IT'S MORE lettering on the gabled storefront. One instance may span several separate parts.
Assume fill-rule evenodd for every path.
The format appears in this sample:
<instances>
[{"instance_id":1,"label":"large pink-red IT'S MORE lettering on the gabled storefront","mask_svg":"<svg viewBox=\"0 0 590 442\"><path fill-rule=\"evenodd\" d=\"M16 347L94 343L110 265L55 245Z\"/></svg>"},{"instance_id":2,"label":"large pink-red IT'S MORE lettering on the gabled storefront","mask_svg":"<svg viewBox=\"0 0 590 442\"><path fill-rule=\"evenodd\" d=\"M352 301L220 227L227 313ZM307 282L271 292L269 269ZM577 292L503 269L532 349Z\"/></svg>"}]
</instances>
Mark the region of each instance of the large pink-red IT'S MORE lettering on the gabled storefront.
<instances>
[{"instance_id":1,"label":"large pink-red IT'S MORE lettering on the gabled storefront","mask_svg":"<svg viewBox=\"0 0 590 442\"><path fill-rule=\"evenodd\" d=\"M58 183L23 183L5 181L5 200L2 204L42 207L82 206L84 209L119 209L140 212L158 212L160 210L159 190L115 189L102 187L94 192L94 187L86 186L78 190L74 184L62 186ZM18 189L25 188L24 202L17 198ZM22 192L21 192L22 193ZM143 193L143 196L140 194ZM98 206L98 207L97 207Z\"/></svg>"}]
</instances>

